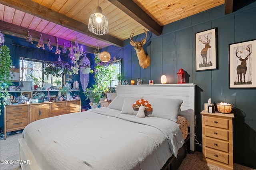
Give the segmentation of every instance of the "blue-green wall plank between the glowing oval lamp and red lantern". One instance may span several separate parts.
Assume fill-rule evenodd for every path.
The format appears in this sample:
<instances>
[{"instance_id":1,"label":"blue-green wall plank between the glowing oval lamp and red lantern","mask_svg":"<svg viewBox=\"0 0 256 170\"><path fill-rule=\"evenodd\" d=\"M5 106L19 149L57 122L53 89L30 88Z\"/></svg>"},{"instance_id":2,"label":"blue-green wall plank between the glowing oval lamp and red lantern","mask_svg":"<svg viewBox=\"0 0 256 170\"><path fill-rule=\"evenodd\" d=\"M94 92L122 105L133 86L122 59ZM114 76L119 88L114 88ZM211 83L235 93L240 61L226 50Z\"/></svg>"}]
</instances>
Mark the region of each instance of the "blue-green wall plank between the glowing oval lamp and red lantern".
<instances>
[{"instance_id":1,"label":"blue-green wall plank between the glowing oval lamp and red lantern","mask_svg":"<svg viewBox=\"0 0 256 170\"><path fill-rule=\"evenodd\" d=\"M166 75L167 83L176 83L176 34L162 37L162 74Z\"/></svg>"}]
</instances>

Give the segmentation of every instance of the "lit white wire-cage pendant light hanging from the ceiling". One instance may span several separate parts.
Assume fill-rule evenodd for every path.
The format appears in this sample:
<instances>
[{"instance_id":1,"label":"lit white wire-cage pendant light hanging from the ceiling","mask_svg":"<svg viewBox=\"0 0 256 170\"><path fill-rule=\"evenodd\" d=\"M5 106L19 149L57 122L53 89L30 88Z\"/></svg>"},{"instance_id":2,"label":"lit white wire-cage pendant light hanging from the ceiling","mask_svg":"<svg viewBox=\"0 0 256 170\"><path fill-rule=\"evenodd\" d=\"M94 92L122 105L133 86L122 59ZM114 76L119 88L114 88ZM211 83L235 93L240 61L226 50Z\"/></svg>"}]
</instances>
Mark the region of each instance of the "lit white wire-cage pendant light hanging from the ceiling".
<instances>
[{"instance_id":1,"label":"lit white wire-cage pendant light hanging from the ceiling","mask_svg":"<svg viewBox=\"0 0 256 170\"><path fill-rule=\"evenodd\" d=\"M108 18L102 14L100 0L98 0L98 4L96 12L90 15L88 29L90 32L101 36L108 34Z\"/></svg>"}]
</instances>

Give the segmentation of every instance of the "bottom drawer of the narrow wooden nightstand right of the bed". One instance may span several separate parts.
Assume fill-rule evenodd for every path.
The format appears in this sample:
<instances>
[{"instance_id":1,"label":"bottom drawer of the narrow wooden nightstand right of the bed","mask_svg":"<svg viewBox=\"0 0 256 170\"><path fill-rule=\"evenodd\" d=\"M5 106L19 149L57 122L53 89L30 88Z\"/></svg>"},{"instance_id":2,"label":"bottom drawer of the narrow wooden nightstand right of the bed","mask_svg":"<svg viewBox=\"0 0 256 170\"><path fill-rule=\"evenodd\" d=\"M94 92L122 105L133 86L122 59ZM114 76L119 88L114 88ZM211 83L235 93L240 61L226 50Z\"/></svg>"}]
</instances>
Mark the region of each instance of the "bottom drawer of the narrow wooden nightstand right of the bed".
<instances>
[{"instance_id":1,"label":"bottom drawer of the narrow wooden nightstand right of the bed","mask_svg":"<svg viewBox=\"0 0 256 170\"><path fill-rule=\"evenodd\" d=\"M206 158L216 160L216 161L222 162L224 164L229 164L229 162L228 162L229 154L228 153L206 148L206 152L204 154L205 154Z\"/></svg>"}]
</instances>

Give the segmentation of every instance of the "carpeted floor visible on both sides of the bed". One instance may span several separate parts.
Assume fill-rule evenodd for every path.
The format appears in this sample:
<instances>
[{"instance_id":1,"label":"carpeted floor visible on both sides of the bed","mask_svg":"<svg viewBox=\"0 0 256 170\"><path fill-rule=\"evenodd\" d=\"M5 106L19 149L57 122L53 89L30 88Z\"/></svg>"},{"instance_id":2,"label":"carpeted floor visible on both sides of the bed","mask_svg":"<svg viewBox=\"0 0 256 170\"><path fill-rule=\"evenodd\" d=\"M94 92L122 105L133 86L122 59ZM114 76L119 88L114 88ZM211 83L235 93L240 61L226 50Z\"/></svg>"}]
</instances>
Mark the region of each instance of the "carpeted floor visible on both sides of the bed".
<instances>
[{"instance_id":1,"label":"carpeted floor visible on both sides of the bed","mask_svg":"<svg viewBox=\"0 0 256 170\"><path fill-rule=\"evenodd\" d=\"M6 140L0 140L0 160L13 160L14 164L0 164L0 170L21 170L20 165L16 164L19 160L18 139L22 138L22 134L10 135ZM202 162L202 153L195 152L187 154L178 170L223 170L217 166ZM234 163L234 170L252 170L246 166Z\"/></svg>"}]
</instances>

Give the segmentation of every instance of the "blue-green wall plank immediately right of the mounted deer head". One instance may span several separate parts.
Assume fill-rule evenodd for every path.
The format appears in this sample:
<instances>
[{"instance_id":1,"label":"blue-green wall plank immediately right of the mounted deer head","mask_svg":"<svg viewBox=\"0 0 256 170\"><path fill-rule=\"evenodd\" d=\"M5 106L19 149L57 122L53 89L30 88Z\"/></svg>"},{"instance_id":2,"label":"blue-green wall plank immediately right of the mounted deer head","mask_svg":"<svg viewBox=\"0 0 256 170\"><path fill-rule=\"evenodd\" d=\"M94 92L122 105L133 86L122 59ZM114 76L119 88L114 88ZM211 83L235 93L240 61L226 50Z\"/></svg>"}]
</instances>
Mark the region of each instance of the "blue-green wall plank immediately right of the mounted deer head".
<instances>
[{"instance_id":1,"label":"blue-green wall plank immediately right of the mounted deer head","mask_svg":"<svg viewBox=\"0 0 256 170\"><path fill-rule=\"evenodd\" d=\"M157 37L150 43L151 79L155 84L161 84L162 75L162 37Z\"/></svg>"}]
</instances>

